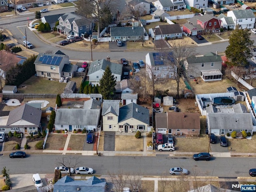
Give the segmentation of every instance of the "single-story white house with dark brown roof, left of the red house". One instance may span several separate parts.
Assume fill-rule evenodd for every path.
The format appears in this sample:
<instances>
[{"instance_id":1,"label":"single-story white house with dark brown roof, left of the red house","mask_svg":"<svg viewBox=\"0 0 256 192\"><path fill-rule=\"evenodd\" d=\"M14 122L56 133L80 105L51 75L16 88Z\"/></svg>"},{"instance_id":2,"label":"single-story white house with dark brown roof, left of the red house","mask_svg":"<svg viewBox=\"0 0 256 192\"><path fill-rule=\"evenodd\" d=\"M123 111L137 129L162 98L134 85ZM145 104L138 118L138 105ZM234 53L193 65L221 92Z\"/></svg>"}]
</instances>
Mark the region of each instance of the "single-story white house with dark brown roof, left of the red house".
<instances>
[{"instance_id":1,"label":"single-story white house with dark brown roof, left of the red house","mask_svg":"<svg viewBox=\"0 0 256 192\"><path fill-rule=\"evenodd\" d=\"M149 29L149 34L155 40L182 38L182 30L179 24L156 26Z\"/></svg>"}]
</instances>

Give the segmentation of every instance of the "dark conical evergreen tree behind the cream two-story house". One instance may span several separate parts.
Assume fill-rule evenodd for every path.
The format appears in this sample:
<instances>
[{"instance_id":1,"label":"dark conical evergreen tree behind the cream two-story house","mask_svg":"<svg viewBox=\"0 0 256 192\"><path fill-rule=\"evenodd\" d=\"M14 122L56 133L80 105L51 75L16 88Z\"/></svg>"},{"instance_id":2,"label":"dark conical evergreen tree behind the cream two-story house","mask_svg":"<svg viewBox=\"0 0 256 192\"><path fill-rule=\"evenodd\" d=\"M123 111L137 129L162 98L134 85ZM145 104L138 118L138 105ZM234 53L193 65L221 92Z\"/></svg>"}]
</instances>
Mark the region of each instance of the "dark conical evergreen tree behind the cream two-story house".
<instances>
[{"instance_id":1,"label":"dark conical evergreen tree behind the cream two-story house","mask_svg":"<svg viewBox=\"0 0 256 192\"><path fill-rule=\"evenodd\" d=\"M111 99L111 95L116 91L116 80L112 74L110 67L107 66L106 70L100 79L100 94L102 94L103 99Z\"/></svg>"}]
</instances>

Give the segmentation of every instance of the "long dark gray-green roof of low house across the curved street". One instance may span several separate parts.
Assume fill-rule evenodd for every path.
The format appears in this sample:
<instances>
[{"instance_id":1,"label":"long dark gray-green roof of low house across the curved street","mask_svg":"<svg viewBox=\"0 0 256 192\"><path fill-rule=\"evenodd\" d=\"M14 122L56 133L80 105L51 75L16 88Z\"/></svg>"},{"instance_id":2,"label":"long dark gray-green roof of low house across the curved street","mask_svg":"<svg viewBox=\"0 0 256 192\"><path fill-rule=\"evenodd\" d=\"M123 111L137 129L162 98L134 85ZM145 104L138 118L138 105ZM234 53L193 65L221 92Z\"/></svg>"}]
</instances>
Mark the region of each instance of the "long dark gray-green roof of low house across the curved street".
<instances>
[{"instance_id":1,"label":"long dark gray-green roof of low house across the curved street","mask_svg":"<svg viewBox=\"0 0 256 192\"><path fill-rule=\"evenodd\" d=\"M144 27L111 27L110 36L144 36Z\"/></svg>"}]
</instances>

